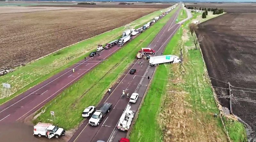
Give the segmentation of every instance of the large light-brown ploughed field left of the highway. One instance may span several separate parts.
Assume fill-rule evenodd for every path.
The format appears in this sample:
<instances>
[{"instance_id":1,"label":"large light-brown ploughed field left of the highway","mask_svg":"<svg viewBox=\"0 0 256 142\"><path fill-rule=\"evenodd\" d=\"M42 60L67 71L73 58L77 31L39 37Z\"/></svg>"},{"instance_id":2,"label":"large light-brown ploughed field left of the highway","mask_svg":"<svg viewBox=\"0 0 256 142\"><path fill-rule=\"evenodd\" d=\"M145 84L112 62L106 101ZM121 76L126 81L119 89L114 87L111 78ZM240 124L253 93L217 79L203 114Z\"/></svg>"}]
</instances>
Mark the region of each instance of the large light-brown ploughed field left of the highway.
<instances>
[{"instance_id":1,"label":"large light-brown ploughed field left of the highway","mask_svg":"<svg viewBox=\"0 0 256 142\"><path fill-rule=\"evenodd\" d=\"M1 14L0 69L35 60L156 10L77 8Z\"/></svg>"}]
</instances>

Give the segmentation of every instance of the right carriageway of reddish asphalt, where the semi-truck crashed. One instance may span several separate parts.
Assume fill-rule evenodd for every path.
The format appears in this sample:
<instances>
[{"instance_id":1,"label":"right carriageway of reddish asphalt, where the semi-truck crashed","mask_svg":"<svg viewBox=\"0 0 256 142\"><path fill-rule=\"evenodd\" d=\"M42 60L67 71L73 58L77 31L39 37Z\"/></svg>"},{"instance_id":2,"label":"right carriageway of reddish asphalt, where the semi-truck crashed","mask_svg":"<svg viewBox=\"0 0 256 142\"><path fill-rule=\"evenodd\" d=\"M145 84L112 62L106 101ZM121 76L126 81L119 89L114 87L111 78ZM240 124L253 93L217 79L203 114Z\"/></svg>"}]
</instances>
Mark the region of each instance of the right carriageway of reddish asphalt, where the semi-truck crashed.
<instances>
[{"instance_id":1,"label":"right carriageway of reddish asphalt, where the semi-truck crashed","mask_svg":"<svg viewBox=\"0 0 256 142\"><path fill-rule=\"evenodd\" d=\"M164 51L165 46L170 41L172 36L175 34L180 24L176 24L175 20L178 16L179 10L176 11L172 18L167 22L163 29L159 32L156 38L148 46L156 50L155 56L159 56ZM69 140L69 142L96 142L97 140L103 141L118 141L120 138L126 136L126 132L117 130L117 123L121 117L123 110L126 108L127 104L131 105L131 109L137 112L142 97L147 89L149 79L148 76L152 76L155 70L154 66L149 66L146 60L143 60L143 64L132 64L125 72L125 74L118 80L115 86L113 86L113 92L108 95L106 94L101 101L101 106L104 102L113 103L113 108L104 117L103 121L99 126L91 126L88 123L89 119L86 119L84 123L78 128L74 136ZM130 69L136 69L135 75L130 75ZM125 89L125 94L130 95L134 92L139 93L139 98L136 103L129 103L129 98L121 97L122 90Z\"/></svg>"}]
</instances>

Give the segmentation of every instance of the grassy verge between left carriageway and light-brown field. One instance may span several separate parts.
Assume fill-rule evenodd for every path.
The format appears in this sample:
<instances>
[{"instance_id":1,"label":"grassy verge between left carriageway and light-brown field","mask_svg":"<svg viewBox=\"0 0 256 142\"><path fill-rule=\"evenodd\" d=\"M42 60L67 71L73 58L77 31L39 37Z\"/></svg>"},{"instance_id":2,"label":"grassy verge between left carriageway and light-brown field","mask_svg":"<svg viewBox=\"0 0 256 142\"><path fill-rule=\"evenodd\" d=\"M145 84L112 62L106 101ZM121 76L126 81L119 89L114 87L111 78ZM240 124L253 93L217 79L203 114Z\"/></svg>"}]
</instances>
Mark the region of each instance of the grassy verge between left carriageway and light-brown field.
<instances>
[{"instance_id":1,"label":"grassy verge between left carriageway and light-brown field","mask_svg":"<svg viewBox=\"0 0 256 142\"><path fill-rule=\"evenodd\" d=\"M148 14L133 21L129 25L132 27L141 25L145 21L151 20L160 15L163 10ZM13 94L10 97L0 99L0 104L9 101L13 97L43 82L47 78L63 71L65 68L68 68L70 64L75 64L78 61L83 60L84 56L88 56L90 51L95 50L97 44L104 44L112 41L110 39L116 39L124 30L125 26L122 26L104 34L97 35L93 38L71 45L68 48L62 49L31 64L27 64L27 66L17 67L16 71L1 76L1 83L9 83L12 86L11 93ZM2 88L0 88L0 92L1 91Z\"/></svg>"}]
</instances>

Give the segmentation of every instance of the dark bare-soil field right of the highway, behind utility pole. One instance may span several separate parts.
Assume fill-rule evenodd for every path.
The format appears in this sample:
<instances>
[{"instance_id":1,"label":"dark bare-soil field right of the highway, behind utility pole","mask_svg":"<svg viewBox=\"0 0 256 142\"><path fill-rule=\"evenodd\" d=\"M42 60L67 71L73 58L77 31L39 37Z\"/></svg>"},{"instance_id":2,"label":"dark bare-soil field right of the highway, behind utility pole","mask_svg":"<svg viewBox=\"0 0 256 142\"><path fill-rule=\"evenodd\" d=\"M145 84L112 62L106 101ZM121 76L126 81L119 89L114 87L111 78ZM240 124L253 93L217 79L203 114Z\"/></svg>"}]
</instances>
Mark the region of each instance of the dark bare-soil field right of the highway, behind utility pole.
<instances>
[{"instance_id":1,"label":"dark bare-soil field right of the highway, behind utility pole","mask_svg":"<svg viewBox=\"0 0 256 142\"><path fill-rule=\"evenodd\" d=\"M256 100L253 90L256 89L256 9L239 11L230 11L200 24L197 36L204 36L200 46L209 76L224 81L211 79L212 85L228 88L225 82L230 82L232 86L241 87L231 87L233 114L249 125L249 142L252 142L256 140L256 109L255 103L248 100ZM215 91L217 95L228 95L227 89L215 88ZM219 100L222 106L230 108L228 99Z\"/></svg>"}]
</instances>

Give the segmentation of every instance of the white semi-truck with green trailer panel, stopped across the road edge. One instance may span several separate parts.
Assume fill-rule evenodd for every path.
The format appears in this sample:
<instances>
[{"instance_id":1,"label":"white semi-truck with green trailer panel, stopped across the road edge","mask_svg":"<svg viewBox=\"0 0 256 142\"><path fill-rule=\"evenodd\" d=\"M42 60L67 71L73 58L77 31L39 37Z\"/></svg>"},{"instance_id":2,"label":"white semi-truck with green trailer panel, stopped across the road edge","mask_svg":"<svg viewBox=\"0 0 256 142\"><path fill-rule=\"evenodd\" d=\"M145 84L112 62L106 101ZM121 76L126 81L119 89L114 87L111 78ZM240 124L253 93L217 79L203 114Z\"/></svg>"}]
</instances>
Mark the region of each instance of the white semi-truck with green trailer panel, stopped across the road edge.
<instances>
[{"instance_id":1,"label":"white semi-truck with green trailer panel, stopped across the road edge","mask_svg":"<svg viewBox=\"0 0 256 142\"><path fill-rule=\"evenodd\" d=\"M157 66L161 63L180 63L180 59L175 55L151 56L149 65Z\"/></svg>"}]
</instances>

